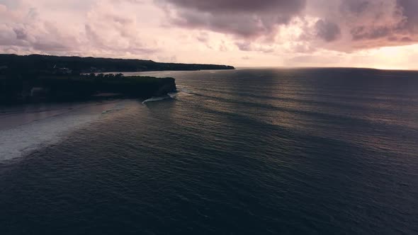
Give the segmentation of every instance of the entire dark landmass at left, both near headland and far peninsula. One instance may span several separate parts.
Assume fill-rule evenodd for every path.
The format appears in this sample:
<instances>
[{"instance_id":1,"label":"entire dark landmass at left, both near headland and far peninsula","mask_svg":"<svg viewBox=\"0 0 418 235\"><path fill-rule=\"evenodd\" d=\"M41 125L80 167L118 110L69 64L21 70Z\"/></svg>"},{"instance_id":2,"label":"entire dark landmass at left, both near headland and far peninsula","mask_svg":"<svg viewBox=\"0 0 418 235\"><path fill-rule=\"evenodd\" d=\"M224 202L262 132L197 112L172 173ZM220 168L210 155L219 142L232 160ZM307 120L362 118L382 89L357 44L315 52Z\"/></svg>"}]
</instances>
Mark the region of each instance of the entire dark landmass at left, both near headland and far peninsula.
<instances>
[{"instance_id":1,"label":"entire dark landmass at left, both near headland and far peninsula","mask_svg":"<svg viewBox=\"0 0 418 235\"><path fill-rule=\"evenodd\" d=\"M176 91L173 78L108 73L209 69L235 68L216 64L159 63L141 59L0 55L0 104L164 96Z\"/></svg>"}]
</instances>

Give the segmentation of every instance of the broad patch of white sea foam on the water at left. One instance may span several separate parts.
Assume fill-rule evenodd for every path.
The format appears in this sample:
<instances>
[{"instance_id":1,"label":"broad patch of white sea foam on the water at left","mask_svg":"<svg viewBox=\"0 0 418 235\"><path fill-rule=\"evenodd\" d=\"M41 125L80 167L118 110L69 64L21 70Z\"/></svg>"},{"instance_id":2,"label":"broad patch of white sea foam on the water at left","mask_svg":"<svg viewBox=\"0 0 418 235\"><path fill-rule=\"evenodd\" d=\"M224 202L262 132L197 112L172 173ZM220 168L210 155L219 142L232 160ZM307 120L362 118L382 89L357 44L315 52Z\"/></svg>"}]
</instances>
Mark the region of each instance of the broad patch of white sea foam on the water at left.
<instances>
[{"instance_id":1,"label":"broad patch of white sea foam on the water at left","mask_svg":"<svg viewBox=\"0 0 418 235\"><path fill-rule=\"evenodd\" d=\"M123 109L123 105L115 102L72 107L71 111L30 119L29 122L26 119L33 113L13 115L14 120L21 119L23 124L16 125L13 122L11 127L0 130L0 161L16 159L36 149L60 142L72 130L98 120L102 115Z\"/></svg>"}]
</instances>

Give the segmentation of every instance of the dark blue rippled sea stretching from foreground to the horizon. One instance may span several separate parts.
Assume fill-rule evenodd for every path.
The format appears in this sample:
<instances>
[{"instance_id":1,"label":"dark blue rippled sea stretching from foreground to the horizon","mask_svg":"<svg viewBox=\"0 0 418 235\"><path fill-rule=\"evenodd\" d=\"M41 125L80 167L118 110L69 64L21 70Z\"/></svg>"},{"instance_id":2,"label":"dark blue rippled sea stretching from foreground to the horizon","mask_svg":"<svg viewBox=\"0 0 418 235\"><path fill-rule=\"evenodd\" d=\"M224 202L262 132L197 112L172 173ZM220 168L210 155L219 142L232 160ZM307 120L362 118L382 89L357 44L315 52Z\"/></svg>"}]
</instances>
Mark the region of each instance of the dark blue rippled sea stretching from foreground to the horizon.
<instances>
[{"instance_id":1,"label":"dark blue rippled sea stretching from foreground to the horizon","mask_svg":"<svg viewBox=\"0 0 418 235\"><path fill-rule=\"evenodd\" d=\"M0 234L418 234L417 73L154 74L176 97L1 161Z\"/></svg>"}]
</instances>

